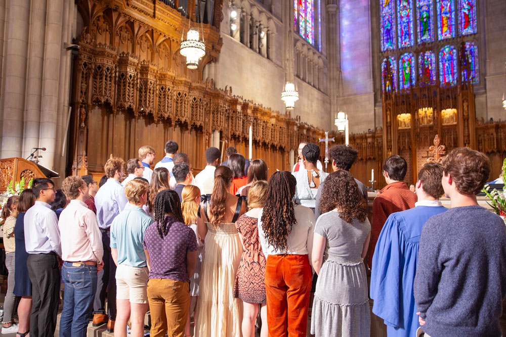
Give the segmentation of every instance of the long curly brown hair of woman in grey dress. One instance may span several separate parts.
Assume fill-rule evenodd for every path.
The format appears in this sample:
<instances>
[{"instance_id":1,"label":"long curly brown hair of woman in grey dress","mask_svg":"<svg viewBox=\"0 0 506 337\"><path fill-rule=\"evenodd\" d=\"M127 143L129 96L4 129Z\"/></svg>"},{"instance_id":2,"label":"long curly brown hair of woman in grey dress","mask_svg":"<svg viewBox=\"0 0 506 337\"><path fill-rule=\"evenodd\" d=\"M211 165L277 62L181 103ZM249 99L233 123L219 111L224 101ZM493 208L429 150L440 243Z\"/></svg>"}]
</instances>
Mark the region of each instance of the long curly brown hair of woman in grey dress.
<instances>
[{"instance_id":1,"label":"long curly brown hair of woman in grey dress","mask_svg":"<svg viewBox=\"0 0 506 337\"><path fill-rule=\"evenodd\" d=\"M322 213L336 208L339 217L348 223L352 223L354 218L364 222L367 217L367 202L348 171L338 170L325 178L320 200Z\"/></svg>"}]
</instances>

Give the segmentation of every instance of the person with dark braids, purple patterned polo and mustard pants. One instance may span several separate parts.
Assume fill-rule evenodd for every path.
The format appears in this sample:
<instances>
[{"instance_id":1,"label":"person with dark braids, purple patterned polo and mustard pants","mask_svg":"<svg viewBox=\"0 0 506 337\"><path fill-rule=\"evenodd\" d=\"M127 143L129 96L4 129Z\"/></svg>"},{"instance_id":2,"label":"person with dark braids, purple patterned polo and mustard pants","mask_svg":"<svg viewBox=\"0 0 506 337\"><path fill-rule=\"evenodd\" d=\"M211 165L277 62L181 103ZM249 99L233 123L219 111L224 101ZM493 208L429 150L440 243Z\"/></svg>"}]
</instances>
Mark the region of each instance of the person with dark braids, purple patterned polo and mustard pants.
<instances>
[{"instance_id":1,"label":"person with dark braids, purple patterned polo and mustard pants","mask_svg":"<svg viewBox=\"0 0 506 337\"><path fill-rule=\"evenodd\" d=\"M164 189L154 200L155 222L144 234L149 267L151 337L184 337L190 314L190 277L197 264L197 239L184 224L176 191Z\"/></svg>"}]
</instances>

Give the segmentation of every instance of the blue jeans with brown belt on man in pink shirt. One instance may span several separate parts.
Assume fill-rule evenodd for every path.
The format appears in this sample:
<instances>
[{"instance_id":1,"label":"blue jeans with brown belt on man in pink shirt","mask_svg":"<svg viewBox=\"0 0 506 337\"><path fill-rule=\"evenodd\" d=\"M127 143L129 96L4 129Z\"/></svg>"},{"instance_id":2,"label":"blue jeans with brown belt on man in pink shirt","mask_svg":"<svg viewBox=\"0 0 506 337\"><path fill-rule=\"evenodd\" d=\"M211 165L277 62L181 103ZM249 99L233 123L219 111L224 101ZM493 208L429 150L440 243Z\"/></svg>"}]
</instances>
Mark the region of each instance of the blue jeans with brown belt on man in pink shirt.
<instances>
[{"instance_id":1,"label":"blue jeans with brown belt on man in pink shirt","mask_svg":"<svg viewBox=\"0 0 506 337\"><path fill-rule=\"evenodd\" d=\"M97 291L97 267L63 262L65 298L60 318L60 337L86 337L93 299Z\"/></svg>"}]
</instances>

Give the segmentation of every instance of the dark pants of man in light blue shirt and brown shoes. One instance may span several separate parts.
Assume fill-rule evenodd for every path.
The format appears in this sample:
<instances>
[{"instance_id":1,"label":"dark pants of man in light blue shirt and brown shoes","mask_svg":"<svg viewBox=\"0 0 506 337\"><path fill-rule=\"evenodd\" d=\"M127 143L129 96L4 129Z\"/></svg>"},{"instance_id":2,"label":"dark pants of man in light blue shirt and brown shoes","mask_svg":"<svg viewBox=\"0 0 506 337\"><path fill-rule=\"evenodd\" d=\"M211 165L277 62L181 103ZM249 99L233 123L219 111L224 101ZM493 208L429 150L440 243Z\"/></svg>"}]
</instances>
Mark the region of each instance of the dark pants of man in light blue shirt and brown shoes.
<instances>
[{"instance_id":1,"label":"dark pants of man in light blue shirt and brown shoes","mask_svg":"<svg viewBox=\"0 0 506 337\"><path fill-rule=\"evenodd\" d=\"M102 231L102 245L104 247L104 275L102 276L102 289L100 292L100 304L105 308L105 295L107 293L107 306L109 308L109 319L116 320L116 264L111 255L111 232ZM98 313L98 312L95 312Z\"/></svg>"}]
</instances>

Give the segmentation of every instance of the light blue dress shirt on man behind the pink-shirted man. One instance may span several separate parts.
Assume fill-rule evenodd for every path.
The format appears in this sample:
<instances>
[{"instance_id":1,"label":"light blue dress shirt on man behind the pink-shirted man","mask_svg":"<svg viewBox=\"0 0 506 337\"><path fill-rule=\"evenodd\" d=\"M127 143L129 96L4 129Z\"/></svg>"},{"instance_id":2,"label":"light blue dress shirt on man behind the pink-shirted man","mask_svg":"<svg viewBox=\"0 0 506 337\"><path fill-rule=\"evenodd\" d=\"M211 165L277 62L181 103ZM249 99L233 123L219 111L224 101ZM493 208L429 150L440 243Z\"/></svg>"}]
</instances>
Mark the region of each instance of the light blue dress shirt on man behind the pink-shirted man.
<instances>
[{"instance_id":1,"label":"light blue dress shirt on man behind the pink-shirted man","mask_svg":"<svg viewBox=\"0 0 506 337\"><path fill-rule=\"evenodd\" d=\"M123 186L116 179L109 178L99 188L95 196L95 207L97 208L97 222L102 229L111 226L112 220L125 208L126 200Z\"/></svg>"}]
</instances>

